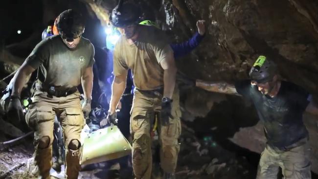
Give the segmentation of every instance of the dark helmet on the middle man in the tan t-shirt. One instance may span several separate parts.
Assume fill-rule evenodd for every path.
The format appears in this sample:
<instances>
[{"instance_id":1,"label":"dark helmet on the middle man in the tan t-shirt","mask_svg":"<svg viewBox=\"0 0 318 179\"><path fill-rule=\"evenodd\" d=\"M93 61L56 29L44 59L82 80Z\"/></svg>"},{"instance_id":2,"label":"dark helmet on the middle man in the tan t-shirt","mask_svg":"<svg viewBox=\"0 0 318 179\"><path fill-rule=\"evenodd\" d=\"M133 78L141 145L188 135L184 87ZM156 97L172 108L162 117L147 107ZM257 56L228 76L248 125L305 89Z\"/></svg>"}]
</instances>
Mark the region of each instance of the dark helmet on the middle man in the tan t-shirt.
<instances>
[{"instance_id":1,"label":"dark helmet on the middle man in the tan t-shirt","mask_svg":"<svg viewBox=\"0 0 318 179\"><path fill-rule=\"evenodd\" d=\"M138 24L140 15L140 9L135 4L123 4L122 0L119 0L112 11L110 21L115 27L124 27L131 24Z\"/></svg>"}]
</instances>

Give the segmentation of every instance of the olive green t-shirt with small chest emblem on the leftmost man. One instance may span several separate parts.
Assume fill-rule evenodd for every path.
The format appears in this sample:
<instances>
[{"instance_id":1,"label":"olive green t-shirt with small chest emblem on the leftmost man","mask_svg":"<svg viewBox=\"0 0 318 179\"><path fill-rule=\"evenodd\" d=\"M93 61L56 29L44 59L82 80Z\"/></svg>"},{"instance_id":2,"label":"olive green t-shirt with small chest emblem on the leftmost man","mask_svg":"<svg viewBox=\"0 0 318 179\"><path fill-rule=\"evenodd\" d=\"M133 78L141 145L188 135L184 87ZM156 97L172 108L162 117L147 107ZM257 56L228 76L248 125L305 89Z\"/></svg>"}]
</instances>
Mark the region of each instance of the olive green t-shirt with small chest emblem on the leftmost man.
<instances>
[{"instance_id":1,"label":"olive green t-shirt with small chest emblem on the leftmost man","mask_svg":"<svg viewBox=\"0 0 318 179\"><path fill-rule=\"evenodd\" d=\"M38 79L50 86L77 87L87 67L94 64L94 47L81 37L75 49L69 49L59 35L41 41L26 58L26 64L38 69Z\"/></svg>"}]
</instances>

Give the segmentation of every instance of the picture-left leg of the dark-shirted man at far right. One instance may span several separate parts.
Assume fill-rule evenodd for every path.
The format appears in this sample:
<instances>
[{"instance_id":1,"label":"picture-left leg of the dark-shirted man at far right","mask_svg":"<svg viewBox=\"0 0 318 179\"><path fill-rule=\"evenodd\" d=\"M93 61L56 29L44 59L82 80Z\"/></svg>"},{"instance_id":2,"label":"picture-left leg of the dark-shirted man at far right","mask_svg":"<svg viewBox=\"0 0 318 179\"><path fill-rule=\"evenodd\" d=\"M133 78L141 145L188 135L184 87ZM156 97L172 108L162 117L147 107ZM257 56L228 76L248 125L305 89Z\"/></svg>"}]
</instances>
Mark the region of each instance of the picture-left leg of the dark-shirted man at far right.
<instances>
[{"instance_id":1,"label":"picture-left leg of the dark-shirted man at far right","mask_svg":"<svg viewBox=\"0 0 318 179\"><path fill-rule=\"evenodd\" d=\"M259 160L256 179L277 179L279 170L278 160L279 154L275 153L275 151L267 145Z\"/></svg>"}]
</instances>

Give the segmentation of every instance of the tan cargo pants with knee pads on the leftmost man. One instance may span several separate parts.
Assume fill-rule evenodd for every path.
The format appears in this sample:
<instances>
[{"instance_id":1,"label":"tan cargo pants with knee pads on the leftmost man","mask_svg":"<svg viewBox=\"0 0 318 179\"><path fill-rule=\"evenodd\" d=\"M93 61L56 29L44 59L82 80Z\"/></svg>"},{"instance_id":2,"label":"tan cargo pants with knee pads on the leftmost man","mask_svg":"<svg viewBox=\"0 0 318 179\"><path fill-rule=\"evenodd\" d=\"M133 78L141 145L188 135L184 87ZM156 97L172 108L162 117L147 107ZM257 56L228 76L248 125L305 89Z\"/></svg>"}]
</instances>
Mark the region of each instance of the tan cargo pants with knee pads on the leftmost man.
<instances>
[{"instance_id":1,"label":"tan cargo pants with knee pads on the leftmost man","mask_svg":"<svg viewBox=\"0 0 318 179\"><path fill-rule=\"evenodd\" d=\"M25 115L25 120L27 125L34 130L35 164L39 167L40 178L48 179L52 165L55 115L62 123L66 148L66 178L77 179L80 169L80 134L85 124L79 92L66 97L50 96L42 91L34 92L34 100ZM74 143L75 146L78 144L75 148Z\"/></svg>"}]
</instances>

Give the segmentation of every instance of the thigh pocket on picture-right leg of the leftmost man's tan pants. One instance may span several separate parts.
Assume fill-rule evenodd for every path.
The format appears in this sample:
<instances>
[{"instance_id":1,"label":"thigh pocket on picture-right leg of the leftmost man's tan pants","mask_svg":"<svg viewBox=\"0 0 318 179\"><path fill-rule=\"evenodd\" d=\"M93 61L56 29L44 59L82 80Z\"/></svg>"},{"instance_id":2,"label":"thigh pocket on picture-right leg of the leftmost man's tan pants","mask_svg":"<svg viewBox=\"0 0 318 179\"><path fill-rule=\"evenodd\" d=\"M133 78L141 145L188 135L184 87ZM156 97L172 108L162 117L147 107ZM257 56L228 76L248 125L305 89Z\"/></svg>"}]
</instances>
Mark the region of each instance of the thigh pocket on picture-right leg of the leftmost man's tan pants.
<instances>
[{"instance_id":1,"label":"thigh pocket on picture-right leg of the leftmost man's tan pants","mask_svg":"<svg viewBox=\"0 0 318 179\"><path fill-rule=\"evenodd\" d=\"M84 115L80 108L68 108L65 111L67 115L66 125L84 126Z\"/></svg>"}]
</instances>

